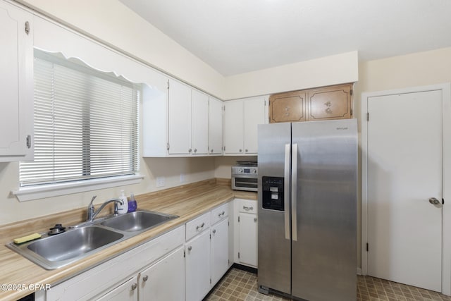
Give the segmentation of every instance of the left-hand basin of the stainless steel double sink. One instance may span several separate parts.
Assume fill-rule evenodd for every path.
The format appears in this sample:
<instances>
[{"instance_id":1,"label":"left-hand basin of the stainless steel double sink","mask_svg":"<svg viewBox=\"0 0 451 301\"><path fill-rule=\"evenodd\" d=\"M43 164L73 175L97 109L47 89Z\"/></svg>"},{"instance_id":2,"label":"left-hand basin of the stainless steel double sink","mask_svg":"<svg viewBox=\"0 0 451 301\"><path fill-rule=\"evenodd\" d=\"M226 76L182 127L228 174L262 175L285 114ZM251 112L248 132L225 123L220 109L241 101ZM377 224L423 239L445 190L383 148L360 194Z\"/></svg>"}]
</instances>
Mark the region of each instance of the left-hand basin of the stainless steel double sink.
<instances>
[{"instance_id":1,"label":"left-hand basin of the stainless steel double sink","mask_svg":"<svg viewBox=\"0 0 451 301\"><path fill-rule=\"evenodd\" d=\"M99 247L120 240L123 236L122 233L89 226L31 242L27 248L49 262L59 262L80 257Z\"/></svg>"}]
</instances>

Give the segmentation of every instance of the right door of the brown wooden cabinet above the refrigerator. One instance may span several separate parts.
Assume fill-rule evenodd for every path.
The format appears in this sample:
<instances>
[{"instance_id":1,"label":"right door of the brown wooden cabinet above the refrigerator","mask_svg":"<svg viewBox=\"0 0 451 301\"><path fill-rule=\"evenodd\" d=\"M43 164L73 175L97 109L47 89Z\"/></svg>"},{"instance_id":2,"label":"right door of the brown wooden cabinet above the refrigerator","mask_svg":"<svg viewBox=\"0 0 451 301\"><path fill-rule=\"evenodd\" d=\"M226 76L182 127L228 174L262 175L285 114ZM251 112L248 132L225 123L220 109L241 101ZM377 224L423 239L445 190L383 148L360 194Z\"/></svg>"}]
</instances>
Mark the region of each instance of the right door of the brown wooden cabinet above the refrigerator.
<instances>
[{"instance_id":1,"label":"right door of the brown wooden cabinet above the refrigerator","mask_svg":"<svg viewBox=\"0 0 451 301\"><path fill-rule=\"evenodd\" d=\"M352 84L308 90L309 121L352 118Z\"/></svg>"}]
</instances>

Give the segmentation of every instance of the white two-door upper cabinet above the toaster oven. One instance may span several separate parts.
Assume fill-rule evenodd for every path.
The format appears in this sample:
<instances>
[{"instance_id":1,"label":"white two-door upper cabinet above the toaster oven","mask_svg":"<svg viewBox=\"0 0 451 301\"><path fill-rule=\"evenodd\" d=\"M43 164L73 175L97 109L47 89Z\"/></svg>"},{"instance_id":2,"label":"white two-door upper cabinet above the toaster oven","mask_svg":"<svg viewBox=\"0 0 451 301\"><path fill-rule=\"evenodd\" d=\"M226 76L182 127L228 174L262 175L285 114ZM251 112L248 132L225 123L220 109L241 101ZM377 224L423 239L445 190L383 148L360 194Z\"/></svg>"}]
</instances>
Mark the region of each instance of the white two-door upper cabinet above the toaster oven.
<instances>
[{"instance_id":1,"label":"white two-door upper cabinet above the toaster oven","mask_svg":"<svg viewBox=\"0 0 451 301\"><path fill-rule=\"evenodd\" d=\"M225 155L257 154L257 125L268 123L267 98L250 97L225 102Z\"/></svg>"}]
</instances>

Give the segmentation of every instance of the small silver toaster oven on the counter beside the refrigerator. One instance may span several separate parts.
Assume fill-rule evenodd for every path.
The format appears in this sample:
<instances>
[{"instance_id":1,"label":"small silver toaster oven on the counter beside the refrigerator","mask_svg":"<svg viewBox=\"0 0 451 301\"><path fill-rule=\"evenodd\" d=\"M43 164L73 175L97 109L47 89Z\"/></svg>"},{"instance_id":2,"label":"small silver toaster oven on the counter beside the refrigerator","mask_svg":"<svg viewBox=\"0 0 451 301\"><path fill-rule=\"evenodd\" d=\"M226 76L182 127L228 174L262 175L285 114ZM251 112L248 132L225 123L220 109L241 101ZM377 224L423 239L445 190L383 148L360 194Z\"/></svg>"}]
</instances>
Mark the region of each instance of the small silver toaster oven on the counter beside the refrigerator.
<instances>
[{"instance_id":1,"label":"small silver toaster oven on the counter beside the refrigerator","mask_svg":"<svg viewBox=\"0 0 451 301\"><path fill-rule=\"evenodd\" d=\"M232 189L257 191L258 167L255 161L237 161L232 166Z\"/></svg>"}]
</instances>

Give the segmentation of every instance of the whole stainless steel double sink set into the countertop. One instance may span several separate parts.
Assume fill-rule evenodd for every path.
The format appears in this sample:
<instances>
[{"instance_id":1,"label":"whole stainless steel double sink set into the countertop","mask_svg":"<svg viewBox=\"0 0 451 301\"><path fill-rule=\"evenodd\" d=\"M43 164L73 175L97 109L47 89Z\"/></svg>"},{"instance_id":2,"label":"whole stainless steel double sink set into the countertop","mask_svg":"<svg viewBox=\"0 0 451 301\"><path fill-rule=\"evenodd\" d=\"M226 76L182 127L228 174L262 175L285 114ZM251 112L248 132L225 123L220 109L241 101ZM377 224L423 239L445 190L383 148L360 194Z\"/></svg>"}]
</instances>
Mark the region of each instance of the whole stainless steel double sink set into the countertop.
<instances>
[{"instance_id":1,"label":"whole stainless steel double sink set into the countertop","mask_svg":"<svg viewBox=\"0 0 451 301\"><path fill-rule=\"evenodd\" d=\"M7 247L44 269L58 269L176 218L139 210L80 223L64 233L43 234L39 240L20 245L10 242Z\"/></svg>"}]
</instances>

